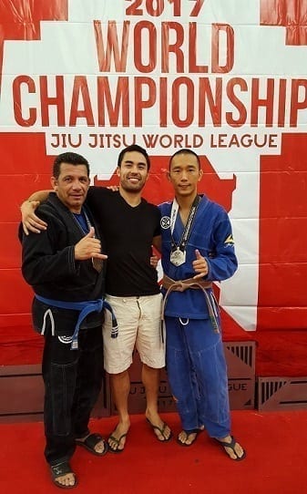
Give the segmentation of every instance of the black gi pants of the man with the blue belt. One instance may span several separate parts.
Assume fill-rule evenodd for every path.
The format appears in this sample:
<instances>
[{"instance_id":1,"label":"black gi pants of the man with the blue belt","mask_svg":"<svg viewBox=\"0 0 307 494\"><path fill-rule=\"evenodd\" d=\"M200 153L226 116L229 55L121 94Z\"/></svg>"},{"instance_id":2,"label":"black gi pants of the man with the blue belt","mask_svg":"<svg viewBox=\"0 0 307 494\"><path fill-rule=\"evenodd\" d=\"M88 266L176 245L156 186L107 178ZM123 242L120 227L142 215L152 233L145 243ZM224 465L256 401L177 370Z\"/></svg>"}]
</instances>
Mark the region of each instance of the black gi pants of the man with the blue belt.
<instances>
[{"instance_id":1,"label":"black gi pants of the man with the blue belt","mask_svg":"<svg viewBox=\"0 0 307 494\"><path fill-rule=\"evenodd\" d=\"M45 383L45 457L50 465L69 460L76 437L89 433L88 421L104 374L101 325L81 329L78 349L46 334L43 355Z\"/></svg>"}]
</instances>

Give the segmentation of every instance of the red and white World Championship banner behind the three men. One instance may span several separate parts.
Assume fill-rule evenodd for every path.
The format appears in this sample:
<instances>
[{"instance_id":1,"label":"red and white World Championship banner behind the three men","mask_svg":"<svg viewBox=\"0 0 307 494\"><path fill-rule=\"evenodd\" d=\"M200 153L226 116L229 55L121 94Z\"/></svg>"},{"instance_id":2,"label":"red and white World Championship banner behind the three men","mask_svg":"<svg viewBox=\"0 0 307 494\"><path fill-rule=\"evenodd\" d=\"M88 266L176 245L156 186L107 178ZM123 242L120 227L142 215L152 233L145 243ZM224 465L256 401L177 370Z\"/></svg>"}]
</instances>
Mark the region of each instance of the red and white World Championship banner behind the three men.
<instances>
[{"instance_id":1,"label":"red and white World Championship banner behind the three men","mask_svg":"<svg viewBox=\"0 0 307 494\"><path fill-rule=\"evenodd\" d=\"M117 183L118 152L148 149L145 197L172 197L180 148L230 213L240 268L220 305L243 329L307 326L307 5L303 0L0 1L0 327L30 321L20 203L60 152Z\"/></svg>"}]
</instances>

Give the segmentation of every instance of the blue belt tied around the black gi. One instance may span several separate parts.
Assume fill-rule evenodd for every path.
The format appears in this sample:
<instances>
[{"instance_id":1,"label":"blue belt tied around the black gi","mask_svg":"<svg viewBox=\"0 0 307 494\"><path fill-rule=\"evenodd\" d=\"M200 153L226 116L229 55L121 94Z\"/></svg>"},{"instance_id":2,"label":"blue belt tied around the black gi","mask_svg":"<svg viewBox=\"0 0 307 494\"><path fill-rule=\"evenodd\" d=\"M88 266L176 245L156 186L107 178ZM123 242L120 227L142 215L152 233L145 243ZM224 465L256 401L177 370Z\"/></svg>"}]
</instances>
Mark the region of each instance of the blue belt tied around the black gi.
<instances>
[{"instance_id":1,"label":"blue belt tied around the black gi","mask_svg":"<svg viewBox=\"0 0 307 494\"><path fill-rule=\"evenodd\" d=\"M52 305L53 307L57 307L59 309L70 309L73 311L79 311L79 316L77 318L77 324L75 326L75 331L73 334L73 339L70 345L71 350L77 350L77 336L79 334L80 324L85 320L88 314L97 312L101 313L101 311L105 308L110 312L112 316L112 330L111 330L111 338L118 337L118 322L113 313L112 307L107 303L106 300L98 299L98 300L88 300L87 302L64 302L62 300L54 300L51 298L41 297L36 294L36 299L43 304Z\"/></svg>"}]
</instances>

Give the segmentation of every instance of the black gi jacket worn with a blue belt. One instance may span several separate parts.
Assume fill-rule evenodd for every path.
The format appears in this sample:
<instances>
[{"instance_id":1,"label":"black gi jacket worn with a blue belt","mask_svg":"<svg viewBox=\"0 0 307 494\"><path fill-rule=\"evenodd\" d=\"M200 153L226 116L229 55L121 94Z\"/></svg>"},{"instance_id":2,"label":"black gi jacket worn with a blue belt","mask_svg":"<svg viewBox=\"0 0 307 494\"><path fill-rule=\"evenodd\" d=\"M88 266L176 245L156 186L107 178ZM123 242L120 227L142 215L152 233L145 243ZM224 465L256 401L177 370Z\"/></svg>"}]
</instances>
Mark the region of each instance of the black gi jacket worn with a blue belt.
<instances>
[{"instance_id":1,"label":"black gi jacket worn with a blue belt","mask_svg":"<svg viewBox=\"0 0 307 494\"><path fill-rule=\"evenodd\" d=\"M96 221L85 209L96 237L102 240ZM19 228L19 238L23 244L22 273L26 282L32 285L35 293L49 299L85 302L102 298L105 293L105 269L97 273L91 260L75 261L75 244L85 233L71 211L59 201L55 192L50 192L36 213L47 222L46 231L39 234L30 232L26 236L21 225ZM56 334L73 333L79 314L77 311L55 308L35 298L32 313L36 331L41 331L48 309L51 309L56 322ZM102 321L103 314L88 314L81 328L94 327Z\"/></svg>"}]
</instances>

